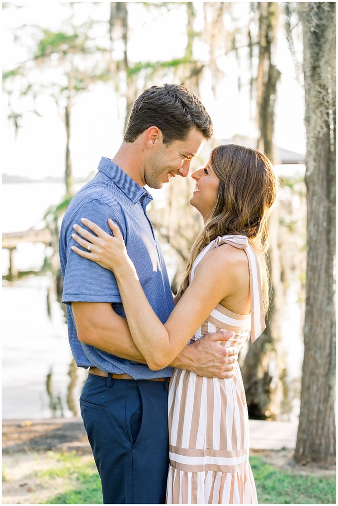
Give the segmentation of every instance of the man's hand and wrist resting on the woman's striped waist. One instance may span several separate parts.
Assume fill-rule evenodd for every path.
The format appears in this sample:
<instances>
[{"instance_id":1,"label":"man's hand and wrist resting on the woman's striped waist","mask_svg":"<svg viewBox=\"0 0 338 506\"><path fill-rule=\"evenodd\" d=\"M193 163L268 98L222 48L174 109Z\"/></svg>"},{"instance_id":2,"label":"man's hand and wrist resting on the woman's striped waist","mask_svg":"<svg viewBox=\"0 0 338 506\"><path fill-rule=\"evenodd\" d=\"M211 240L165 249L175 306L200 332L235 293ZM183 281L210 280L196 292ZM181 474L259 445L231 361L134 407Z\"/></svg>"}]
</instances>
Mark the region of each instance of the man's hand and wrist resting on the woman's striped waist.
<instances>
[{"instance_id":1,"label":"man's hand and wrist resting on the woman's striped waist","mask_svg":"<svg viewBox=\"0 0 338 506\"><path fill-rule=\"evenodd\" d=\"M229 335L225 331L207 334L183 348L170 365L195 372L199 376L231 378L234 374L238 350L225 348L217 343L217 341L227 339Z\"/></svg>"}]
</instances>

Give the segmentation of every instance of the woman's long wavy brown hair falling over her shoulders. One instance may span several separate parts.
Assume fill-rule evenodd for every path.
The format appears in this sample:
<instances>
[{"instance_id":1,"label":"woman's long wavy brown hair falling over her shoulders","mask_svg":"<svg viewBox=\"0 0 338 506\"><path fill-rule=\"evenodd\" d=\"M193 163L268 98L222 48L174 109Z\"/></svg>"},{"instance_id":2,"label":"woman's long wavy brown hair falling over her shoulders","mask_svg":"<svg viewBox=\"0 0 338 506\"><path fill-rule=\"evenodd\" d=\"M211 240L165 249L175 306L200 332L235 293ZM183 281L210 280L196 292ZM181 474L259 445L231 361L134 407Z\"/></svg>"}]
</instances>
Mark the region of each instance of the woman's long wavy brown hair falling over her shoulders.
<instances>
[{"instance_id":1,"label":"woman's long wavy brown hair falling over her shoulders","mask_svg":"<svg viewBox=\"0 0 338 506\"><path fill-rule=\"evenodd\" d=\"M235 144L218 146L210 162L219 179L214 209L192 245L179 294L186 290L195 259L211 241L223 235L245 235L255 249L263 275L264 309L268 308L268 217L276 200L272 164L259 151Z\"/></svg>"}]
</instances>

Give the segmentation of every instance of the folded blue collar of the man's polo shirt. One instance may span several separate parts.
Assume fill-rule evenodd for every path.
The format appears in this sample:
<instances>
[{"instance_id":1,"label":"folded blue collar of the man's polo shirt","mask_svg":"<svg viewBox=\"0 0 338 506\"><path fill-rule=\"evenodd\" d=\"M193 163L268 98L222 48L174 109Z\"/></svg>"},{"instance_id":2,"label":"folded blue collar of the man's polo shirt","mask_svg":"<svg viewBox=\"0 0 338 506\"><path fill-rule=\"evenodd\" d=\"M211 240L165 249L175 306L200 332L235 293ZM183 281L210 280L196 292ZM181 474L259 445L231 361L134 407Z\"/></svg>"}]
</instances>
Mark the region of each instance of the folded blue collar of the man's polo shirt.
<instances>
[{"instance_id":1,"label":"folded blue collar of the man's polo shirt","mask_svg":"<svg viewBox=\"0 0 338 506\"><path fill-rule=\"evenodd\" d=\"M101 158L98 170L105 174L120 190L134 203L138 202L143 196L148 203L153 200L152 195L142 186L139 186L122 169L109 158Z\"/></svg>"}]
</instances>

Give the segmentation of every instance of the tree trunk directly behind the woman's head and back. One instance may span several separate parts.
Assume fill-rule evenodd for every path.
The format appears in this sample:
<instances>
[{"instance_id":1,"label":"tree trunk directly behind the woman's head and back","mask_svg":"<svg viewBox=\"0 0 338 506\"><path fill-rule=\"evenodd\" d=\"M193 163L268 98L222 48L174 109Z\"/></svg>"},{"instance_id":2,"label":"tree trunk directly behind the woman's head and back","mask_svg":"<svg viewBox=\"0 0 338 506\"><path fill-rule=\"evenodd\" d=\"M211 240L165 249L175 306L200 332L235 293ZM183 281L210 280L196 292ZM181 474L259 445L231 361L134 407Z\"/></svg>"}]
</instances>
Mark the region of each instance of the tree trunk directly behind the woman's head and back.
<instances>
[{"instance_id":1,"label":"tree trunk directly behind the woman's head and back","mask_svg":"<svg viewBox=\"0 0 338 506\"><path fill-rule=\"evenodd\" d=\"M259 2L259 61L257 68L257 123L260 131L258 149L273 161L274 105L279 70L272 63L276 44L278 5ZM251 418L276 418L282 401L279 341L281 306L283 300L278 252L278 213L275 210L269 223L271 304L266 329L254 345L249 344L241 368Z\"/></svg>"}]
</instances>

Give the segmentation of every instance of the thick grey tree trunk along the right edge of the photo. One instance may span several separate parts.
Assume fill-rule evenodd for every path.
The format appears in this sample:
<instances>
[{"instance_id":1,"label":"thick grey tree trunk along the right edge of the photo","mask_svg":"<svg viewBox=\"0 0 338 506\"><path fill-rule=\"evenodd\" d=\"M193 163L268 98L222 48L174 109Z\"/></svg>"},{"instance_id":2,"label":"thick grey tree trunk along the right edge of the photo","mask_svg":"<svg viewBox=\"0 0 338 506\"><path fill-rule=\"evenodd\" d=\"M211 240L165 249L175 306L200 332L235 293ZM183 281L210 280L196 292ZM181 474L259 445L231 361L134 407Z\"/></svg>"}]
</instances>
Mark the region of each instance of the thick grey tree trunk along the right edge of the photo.
<instances>
[{"instance_id":1,"label":"thick grey tree trunk along the right edge of the photo","mask_svg":"<svg viewBox=\"0 0 338 506\"><path fill-rule=\"evenodd\" d=\"M307 133L307 280L295 459L335 462L335 4L299 4Z\"/></svg>"}]
</instances>

